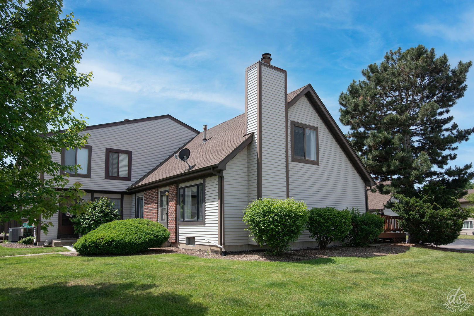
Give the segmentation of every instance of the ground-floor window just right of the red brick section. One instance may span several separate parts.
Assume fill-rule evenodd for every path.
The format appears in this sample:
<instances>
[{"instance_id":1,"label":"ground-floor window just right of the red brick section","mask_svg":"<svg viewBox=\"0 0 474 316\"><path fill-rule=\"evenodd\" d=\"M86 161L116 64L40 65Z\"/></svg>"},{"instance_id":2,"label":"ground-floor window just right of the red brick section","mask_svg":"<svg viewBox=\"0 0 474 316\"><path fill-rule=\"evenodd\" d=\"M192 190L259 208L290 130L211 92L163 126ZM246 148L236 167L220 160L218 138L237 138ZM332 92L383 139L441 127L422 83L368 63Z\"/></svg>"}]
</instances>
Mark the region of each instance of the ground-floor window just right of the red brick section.
<instances>
[{"instance_id":1,"label":"ground-floor window just right of the red brick section","mask_svg":"<svg viewBox=\"0 0 474 316\"><path fill-rule=\"evenodd\" d=\"M179 189L179 220L202 221L204 206L202 183Z\"/></svg>"}]
</instances>

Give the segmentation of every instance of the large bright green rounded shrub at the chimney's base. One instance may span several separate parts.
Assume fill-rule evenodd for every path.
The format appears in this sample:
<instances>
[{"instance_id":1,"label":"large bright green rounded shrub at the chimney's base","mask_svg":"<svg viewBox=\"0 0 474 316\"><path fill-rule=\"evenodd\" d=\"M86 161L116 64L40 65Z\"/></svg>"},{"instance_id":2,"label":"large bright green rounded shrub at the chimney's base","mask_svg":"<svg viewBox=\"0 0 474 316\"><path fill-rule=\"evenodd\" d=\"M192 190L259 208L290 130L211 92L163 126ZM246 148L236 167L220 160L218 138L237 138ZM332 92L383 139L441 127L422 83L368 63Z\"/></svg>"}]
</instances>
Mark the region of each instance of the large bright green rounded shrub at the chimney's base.
<instances>
[{"instance_id":1,"label":"large bright green rounded shrub at the chimney's base","mask_svg":"<svg viewBox=\"0 0 474 316\"><path fill-rule=\"evenodd\" d=\"M267 253L281 254L301 235L308 220L303 201L265 198L253 201L244 209L244 222L253 240L269 247Z\"/></svg>"}]
</instances>

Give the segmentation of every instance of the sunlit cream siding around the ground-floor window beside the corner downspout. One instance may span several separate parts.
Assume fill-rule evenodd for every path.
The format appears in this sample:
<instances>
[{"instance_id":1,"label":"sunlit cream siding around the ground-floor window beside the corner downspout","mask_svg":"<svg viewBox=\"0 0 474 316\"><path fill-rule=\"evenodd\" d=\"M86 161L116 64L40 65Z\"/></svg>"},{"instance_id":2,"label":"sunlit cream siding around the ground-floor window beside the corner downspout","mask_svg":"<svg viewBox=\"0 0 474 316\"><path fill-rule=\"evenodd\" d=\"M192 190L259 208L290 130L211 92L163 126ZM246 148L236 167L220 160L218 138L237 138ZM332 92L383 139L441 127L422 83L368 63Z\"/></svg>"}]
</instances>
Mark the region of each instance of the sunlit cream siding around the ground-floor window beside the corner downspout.
<instances>
[{"instance_id":1,"label":"sunlit cream siding around the ground-floor window beside the corner downspout","mask_svg":"<svg viewBox=\"0 0 474 316\"><path fill-rule=\"evenodd\" d=\"M191 181L186 183L180 183L179 187L187 185L202 183L200 181ZM178 188L179 190L179 188ZM179 191L178 191L179 193ZM204 220L205 225L179 225L178 224L178 241L179 243L185 244L186 237L195 237L196 244L201 245L212 245L205 241L209 239L214 243L219 241L219 230L218 230L218 216L219 216L219 177L209 177L205 179L204 185Z\"/></svg>"}]
</instances>

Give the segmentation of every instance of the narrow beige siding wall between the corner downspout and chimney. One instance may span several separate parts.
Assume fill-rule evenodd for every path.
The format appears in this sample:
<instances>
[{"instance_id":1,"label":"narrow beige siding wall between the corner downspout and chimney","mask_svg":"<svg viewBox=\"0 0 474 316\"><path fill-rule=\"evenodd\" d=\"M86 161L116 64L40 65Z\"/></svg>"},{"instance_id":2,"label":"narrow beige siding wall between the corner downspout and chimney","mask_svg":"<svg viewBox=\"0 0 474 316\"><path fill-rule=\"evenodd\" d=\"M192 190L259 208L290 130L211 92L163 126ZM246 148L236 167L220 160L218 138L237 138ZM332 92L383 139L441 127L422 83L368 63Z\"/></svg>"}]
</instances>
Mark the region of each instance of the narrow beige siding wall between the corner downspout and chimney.
<instances>
[{"instance_id":1,"label":"narrow beige siding wall between the corner downspout and chimney","mask_svg":"<svg viewBox=\"0 0 474 316\"><path fill-rule=\"evenodd\" d=\"M247 197L247 148L230 162L224 171L224 241L225 245L247 244L248 232L242 221Z\"/></svg>"}]
</instances>

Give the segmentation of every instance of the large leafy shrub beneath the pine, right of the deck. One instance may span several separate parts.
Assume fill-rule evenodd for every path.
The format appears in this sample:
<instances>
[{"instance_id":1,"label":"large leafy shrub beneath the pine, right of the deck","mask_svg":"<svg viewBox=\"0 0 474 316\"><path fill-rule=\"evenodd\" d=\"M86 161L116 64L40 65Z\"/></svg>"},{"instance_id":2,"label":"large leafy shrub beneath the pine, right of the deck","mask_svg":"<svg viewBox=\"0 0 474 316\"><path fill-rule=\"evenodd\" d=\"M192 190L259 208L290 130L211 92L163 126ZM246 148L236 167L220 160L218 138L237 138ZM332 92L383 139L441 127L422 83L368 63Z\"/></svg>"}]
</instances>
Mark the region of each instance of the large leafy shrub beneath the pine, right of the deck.
<instances>
[{"instance_id":1,"label":"large leafy shrub beneath the pine, right of the deck","mask_svg":"<svg viewBox=\"0 0 474 316\"><path fill-rule=\"evenodd\" d=\"M469 210L459 207L442 208L433 203L430 196L407 198L396 194L395 198L399 202L393 204L392 210L402 217L400 226L413 244L438 246L454 242L470 214Z\"/></svg>"}]
</instances>

